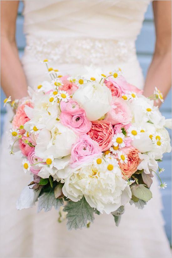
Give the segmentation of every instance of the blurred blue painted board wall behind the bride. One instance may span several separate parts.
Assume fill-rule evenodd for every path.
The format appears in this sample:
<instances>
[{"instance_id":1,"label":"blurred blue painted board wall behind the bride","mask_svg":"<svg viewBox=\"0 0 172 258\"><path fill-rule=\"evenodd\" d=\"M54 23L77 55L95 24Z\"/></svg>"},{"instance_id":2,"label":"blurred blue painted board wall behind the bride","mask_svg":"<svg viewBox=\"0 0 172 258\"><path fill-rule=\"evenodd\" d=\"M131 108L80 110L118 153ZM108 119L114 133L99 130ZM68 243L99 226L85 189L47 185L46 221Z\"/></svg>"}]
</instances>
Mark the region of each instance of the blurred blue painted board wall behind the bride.
<instances>
[{"instance_id":1,"label":"blurred blue painted board wall behind the bride","mask_svg":"<svg viewBox=\"0 0 172 258\"><path fill-rule=\"evenodd\" d=\"M16 22L16 40L20 57L23 54L25 47L25 38L23 35L23 16L22 16L23 3L20 1L18 8L18 18ZM154 21L151 4L145 13L143 28L136 41L136 49L140 65L142 67L144 77L146 76L147 69L151 62L152 54L154 52L155 32ZM3 99L5 98L1 89L1 134L3 128L5 109L3 108ZM171 91L169 92L164 104L161 106L161 112L166 118L171 118ZM171 133L171 132L170 132ZM169 241L171 243L171 153L164 154L163 162L160 167L164 167L165 171L162 173L162 180L168 184L168 187L161 190L163 197L163 215L165 219L165 230Z\"/></svg>"}]
</instances>

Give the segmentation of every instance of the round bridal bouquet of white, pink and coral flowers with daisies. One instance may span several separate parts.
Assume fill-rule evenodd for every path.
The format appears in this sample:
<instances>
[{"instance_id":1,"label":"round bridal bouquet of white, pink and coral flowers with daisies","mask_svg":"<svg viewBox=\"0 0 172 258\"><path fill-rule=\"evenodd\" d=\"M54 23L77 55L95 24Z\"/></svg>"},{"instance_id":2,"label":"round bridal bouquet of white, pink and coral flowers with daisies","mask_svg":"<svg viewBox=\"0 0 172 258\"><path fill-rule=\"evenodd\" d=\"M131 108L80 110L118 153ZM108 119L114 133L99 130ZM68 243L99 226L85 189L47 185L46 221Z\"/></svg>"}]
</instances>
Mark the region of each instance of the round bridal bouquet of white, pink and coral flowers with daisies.
<instances>
[{"instance_id":1,"label":"round bridal bouquet of white, pink and coral flowers with daisies","mask_svg":"<svg viewBox=\"0 0 172 258\"><path fill-rule=\"evenodd\" d=\"M66 217L69 230L88 227L104 212L119 225L125 204L143 208L152 198L152 177L164 170L158 162L171 151L165 129L171 121L154 106L162 94L155 88L144 97L120 69L96 76L48 73L50 82L29 89L29 97L4 100L16 108L10 153L20 149L24 173L33 175L17 209L37 201L38 212L60 208L58 221ZM159 187L166 187L161 179Z\"/></svg>"}]
</instances>

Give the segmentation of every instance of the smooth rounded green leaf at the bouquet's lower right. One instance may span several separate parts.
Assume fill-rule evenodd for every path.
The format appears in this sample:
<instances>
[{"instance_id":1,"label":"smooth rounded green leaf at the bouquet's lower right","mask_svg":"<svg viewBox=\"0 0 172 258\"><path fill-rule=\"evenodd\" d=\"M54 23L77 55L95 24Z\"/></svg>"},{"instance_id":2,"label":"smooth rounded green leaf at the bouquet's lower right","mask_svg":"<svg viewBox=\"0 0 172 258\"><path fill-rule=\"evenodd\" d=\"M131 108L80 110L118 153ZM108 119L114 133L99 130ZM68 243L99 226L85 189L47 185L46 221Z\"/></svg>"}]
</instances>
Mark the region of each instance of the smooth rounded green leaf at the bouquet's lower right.
<instances>
[{"instance_id":1,"label":"smooth rounded green leaf at the bouquet's lower right","mask_svg":"<svg viewBox=\"0 0 172 258\"><path fill-rule=\"evenodd\" d=\"M132 195L134 195L135 197L141 200L144 200L147 202L152 198L152 192L144 185L133 185L131 186L130 189L131 189Z\"/></svg>"}]
</instances>

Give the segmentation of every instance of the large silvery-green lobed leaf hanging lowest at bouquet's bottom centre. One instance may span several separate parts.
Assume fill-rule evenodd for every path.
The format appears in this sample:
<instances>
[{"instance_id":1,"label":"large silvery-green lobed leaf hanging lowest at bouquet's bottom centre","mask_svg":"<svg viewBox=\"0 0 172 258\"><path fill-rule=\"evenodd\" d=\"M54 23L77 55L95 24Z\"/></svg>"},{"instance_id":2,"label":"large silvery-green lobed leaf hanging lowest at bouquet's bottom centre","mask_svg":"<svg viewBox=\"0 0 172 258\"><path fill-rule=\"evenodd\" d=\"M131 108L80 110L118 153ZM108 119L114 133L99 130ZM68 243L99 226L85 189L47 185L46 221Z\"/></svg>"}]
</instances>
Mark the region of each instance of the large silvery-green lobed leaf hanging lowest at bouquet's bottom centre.
<instances>
[{"instance_id":1,"label":"large silvery-green lobed leaf hanging lowest at bouquet's bottom centre","mask_svg":"<svg viewBox=\"0 0 172 258\"><path fill-rule=\"evenodd\" d=\"M63 211L68 212L66 215L68 230L81 229L87 226L88 221L94 220L94 208L90 207L84 196L78 202L69 201Z\"/></svg>"}]
</instances>

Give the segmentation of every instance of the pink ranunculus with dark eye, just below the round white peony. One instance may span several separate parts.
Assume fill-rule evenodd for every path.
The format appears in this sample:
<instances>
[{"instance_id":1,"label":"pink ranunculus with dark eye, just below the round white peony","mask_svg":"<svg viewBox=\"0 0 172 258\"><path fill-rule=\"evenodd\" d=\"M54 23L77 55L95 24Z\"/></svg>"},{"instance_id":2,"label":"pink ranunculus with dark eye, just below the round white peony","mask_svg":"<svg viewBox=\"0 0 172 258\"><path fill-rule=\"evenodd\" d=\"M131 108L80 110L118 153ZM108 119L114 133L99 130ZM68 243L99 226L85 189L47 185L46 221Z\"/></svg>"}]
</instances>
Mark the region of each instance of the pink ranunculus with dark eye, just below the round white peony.
<instances>
[{"instance_id":1,"label":"pink ranunculus with dark eye, just below the round white peony","mask_svg":"<svg viewBox=\"0 0 172 258\"><path fill-rule=\"evenodd\" d=\"M74 113L61 112L60 121L78 135L86 134L91 129L91 122L83 109L78 109Z\"/></svg>"}]
</instances>

